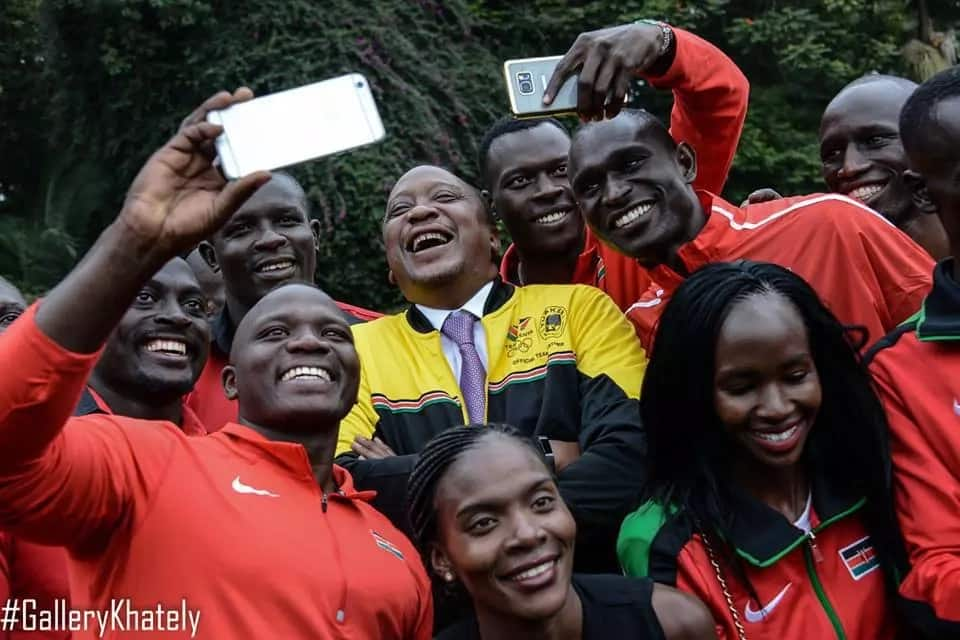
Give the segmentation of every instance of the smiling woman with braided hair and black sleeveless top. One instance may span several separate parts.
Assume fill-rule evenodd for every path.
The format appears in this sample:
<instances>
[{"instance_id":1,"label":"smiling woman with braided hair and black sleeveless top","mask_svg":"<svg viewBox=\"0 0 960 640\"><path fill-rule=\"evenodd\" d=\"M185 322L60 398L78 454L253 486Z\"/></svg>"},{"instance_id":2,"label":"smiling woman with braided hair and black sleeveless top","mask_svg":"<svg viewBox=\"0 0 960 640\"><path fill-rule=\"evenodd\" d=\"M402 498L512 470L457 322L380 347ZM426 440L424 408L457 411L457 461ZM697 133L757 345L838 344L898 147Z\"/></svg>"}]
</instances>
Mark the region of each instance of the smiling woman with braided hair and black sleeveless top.
<instances>
[{"instance_id":1,"label":"smiling woman with braided hair and black sleeveless top","mask_svg":"<svg viewBox=\"0 0 960 640\"><path fill-rule=\"evenodd\" d=\"M511 427L438 435L408 486L428 566L446 587L462 584L476 612L440 639L714 637L689 596L648 580L573 575L573 516L536 446Z\"/></svg>"}]
</instances>

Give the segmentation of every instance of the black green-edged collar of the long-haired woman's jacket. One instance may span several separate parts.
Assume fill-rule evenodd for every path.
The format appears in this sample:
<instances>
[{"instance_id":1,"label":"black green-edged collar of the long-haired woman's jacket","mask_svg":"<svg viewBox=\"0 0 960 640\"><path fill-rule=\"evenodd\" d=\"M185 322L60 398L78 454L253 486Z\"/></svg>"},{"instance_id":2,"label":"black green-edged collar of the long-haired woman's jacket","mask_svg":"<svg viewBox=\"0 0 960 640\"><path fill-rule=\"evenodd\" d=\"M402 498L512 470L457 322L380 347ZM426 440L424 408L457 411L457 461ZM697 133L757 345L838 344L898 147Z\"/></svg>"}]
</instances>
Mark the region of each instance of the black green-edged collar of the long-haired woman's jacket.
<instances>
[{"instance_id":1,"label":"black green-edged collar of the long-haired woman's jacket","mask_svg":"<svg viewBox=\"0 0 960 640\"><path fill-rule=\"evenodd\" d=\"M846 517L864 504L862 498L845 495L820 474L813 476L811 489L815 522L818 522L814 532ZM736 548L738 555L751 564L770 566L806 540L807 535L794 527L783 514L746 491L734 487L730 500L734 517L727 531L728 542Z\"/></svg>"}]
</instances>

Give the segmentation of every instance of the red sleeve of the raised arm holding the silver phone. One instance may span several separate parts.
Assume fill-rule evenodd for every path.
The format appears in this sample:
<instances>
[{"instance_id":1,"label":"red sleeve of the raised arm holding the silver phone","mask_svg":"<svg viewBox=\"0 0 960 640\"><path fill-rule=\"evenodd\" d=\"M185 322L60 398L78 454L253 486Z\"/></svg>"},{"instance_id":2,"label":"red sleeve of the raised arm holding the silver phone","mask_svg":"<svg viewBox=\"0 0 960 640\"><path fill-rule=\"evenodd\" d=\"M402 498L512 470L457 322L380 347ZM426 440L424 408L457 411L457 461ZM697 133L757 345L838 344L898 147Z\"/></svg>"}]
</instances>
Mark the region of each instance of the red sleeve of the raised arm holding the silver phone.
<instances>
[{"instance_id":1,"label":"red sleeve of the raised arm holding the silver phone","mask_svg":"<svg viewBox=\"0 0 960 640\"><path fill-rule=\"evenodd\" d=\"M697 154L696 189L722 193L747 117L750 84L720 49L674 28L677 55L665 74L646 78L673 90L670 135Z\"/></svg>"}]
</instances>

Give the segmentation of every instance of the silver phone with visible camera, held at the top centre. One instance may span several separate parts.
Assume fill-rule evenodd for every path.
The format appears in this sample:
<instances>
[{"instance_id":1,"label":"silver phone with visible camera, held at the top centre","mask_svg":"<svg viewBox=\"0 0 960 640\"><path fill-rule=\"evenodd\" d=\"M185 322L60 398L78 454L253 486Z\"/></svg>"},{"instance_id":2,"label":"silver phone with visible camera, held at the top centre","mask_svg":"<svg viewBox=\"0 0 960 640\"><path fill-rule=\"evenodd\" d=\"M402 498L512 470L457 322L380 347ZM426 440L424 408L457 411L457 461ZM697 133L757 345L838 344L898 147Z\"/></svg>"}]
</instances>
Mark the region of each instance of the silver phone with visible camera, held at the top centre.
<instances>
[{"instance_id":1,"label":"silver phone with visible camera, held at the top centre","mask_svg":"<svg viewBox=\"0 0 960 640\"><path fill-rule=\"evenodd\" d=\"M577 76L572 75L560 87L553 103L543 104L543 94L563 56L522 58L503 63L503 75L510 96L510 110L518 117L576 113Z\"/></svg>"}]
</instances>

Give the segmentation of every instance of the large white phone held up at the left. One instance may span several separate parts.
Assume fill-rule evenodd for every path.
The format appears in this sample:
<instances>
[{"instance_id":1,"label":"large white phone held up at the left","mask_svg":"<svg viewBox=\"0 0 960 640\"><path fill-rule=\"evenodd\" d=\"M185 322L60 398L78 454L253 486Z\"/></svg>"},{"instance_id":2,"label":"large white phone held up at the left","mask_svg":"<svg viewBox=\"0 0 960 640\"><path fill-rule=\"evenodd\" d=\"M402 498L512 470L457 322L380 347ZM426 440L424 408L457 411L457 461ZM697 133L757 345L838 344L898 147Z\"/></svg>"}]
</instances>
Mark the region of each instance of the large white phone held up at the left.
<instances>
[{"instance_id":1,"label":"large white phone held up at the left","mask_svg":"<svg viewBox=\"0 0 960 640\"><path fill-rule=\"evenodd\" d=\"M353 149L385 135L370 85L359 73L211 111L207 120L223 127L216 146L228 178Z\"/></svg>"}]
</instances>

